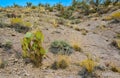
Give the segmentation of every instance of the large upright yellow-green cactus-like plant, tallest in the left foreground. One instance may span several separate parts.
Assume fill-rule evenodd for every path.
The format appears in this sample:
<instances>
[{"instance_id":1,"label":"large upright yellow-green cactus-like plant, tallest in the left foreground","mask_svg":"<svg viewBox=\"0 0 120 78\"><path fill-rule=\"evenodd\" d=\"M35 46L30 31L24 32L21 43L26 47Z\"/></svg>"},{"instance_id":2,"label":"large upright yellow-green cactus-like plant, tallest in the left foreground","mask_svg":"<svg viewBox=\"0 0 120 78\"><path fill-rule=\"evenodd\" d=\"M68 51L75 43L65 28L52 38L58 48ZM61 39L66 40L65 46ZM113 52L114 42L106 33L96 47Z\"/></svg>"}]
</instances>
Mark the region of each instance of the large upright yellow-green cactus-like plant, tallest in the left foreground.
<instances>
[{"instance_id":1,"label":"large upright yellow-green cactus-like plant, tallest in the left foreground","mask_svg":"<svg viewBox=\"0 0 120 78\"><path fill-rule=\"evenodd\" d=\"M42 47L44 36L40 30L27 32L22 39L23 58L29 58L35 66L41 66L43 57L46 54Z\"/></svg>"}]
</instances>

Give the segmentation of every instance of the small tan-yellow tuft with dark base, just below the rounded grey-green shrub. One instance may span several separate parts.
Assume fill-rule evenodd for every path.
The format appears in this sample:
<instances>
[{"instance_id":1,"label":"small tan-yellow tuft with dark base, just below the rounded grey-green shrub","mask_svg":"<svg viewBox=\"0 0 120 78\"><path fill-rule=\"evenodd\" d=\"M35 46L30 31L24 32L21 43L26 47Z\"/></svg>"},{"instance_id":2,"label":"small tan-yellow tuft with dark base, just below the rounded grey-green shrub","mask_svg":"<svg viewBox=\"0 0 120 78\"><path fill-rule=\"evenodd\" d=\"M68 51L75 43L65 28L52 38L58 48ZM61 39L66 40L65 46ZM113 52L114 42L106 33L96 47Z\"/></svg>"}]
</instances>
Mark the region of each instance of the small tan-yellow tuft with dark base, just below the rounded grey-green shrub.
<instances>
[{"instance_id":1,"label":"small tan-yellow tuft with dark base, just below the rounded grey-green shrub","mask_svg":"<svg viewBox=\"0 0 120 78\"><path fill-rule=\"evenodd\" d=\"M70 60L68 56L62 55L62 56L58 56L58 60L56 60L53 64L52 64L52 69L65 69L69 66L70 64Z\"/></svg>"}]
</instances>

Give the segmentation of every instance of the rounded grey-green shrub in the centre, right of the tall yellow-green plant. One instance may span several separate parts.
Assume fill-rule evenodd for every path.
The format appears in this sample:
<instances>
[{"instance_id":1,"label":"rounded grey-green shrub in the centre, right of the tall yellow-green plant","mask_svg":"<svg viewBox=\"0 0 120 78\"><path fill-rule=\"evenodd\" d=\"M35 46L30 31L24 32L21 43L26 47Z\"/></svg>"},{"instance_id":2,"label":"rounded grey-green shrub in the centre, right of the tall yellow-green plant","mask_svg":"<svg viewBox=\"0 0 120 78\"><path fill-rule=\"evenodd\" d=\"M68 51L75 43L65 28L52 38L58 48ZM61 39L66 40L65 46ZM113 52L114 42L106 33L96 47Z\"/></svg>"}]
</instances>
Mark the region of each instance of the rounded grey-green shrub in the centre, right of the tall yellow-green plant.
<instances>
[{"instance_id":1,"label":"rounded grey-green shrub in the centre, right of the tall yellow-green plant","mask_svg":"<svg viewBox=\"0 0 120 78\"><path fill-rule=\"evenodd\" d=\"M50 45L50 51L54 54L70 55L73 48L64 41L54 41Z\"/></svg>"}]
</instances>

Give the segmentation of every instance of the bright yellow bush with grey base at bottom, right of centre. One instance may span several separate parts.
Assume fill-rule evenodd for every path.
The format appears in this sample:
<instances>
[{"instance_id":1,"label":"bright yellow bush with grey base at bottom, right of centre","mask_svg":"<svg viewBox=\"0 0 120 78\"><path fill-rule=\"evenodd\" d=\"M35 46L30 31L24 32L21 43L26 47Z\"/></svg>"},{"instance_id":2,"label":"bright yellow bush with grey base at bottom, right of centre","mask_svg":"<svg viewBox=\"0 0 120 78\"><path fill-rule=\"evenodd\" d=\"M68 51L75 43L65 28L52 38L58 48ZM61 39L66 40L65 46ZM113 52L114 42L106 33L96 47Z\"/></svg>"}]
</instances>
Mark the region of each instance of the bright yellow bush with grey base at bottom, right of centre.
<instances>
[{"instance_id":1,"label":"bright yellow bush with grey base at bottom, right of centre","mask_svg":"<svg viewBox=\"0 0 120 78\"><path fill-rule=\"evenodd\" d=\"M104 70L104 68L97 65L97 58L91 57L90 54L87 54L87 59L83 60L80 65L83 67L82 70L79 72L79 74L82 76L82 78L97 78L98 74L96 73L96 70Z\"/></svg>"}]
</instances>

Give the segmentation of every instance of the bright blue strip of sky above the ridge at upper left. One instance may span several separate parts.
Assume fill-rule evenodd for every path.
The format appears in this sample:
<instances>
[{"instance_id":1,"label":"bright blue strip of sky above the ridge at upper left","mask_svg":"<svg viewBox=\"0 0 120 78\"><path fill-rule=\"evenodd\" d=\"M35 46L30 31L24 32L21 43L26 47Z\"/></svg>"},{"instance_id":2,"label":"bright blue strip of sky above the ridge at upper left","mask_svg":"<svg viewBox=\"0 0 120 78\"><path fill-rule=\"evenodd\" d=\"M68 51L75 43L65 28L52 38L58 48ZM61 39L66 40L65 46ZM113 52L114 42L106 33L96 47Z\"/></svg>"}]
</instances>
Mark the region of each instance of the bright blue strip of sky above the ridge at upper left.
<instances>
[{"instance_id":1,"label":"bright blue strip of sky above the ridge at upper left","mask_svg":"<svg viewBox=\"0 0 120 78\"><path fill-rule=\"evenodd\" d=\"M26 5L26 2L32 2L34 5L37 5L38 3L50 3L51 5L56 4L58 2L61 2L63 5L67 6L71 4L72 0L0 0L0 6L11 6L13 3L19 4L19 5Z\"/></svg>"}]
</instances>

